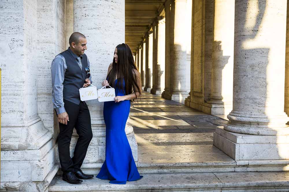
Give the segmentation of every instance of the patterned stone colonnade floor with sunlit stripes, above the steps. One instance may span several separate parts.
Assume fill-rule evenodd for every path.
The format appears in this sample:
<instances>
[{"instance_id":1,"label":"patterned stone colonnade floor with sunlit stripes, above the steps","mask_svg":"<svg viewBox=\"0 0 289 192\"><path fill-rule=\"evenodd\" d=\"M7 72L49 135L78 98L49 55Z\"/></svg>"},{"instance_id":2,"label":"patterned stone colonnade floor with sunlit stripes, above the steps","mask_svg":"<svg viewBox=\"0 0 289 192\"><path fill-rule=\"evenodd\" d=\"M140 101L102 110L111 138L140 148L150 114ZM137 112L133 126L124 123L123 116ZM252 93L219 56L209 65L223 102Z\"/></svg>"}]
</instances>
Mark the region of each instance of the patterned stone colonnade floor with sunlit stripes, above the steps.
<instances>
[{"instance_id":1,"label":"patterned stone colonnade floor with sunlit stripes, above the steps","mask_svg":"<svg viewBox=\"0 0 289 192\"><path fill-rule=\"evenodd\" d=\"M140 172L183 169L184 163L235 162L213 146L216 126L227 122L219 117L148 92L131 104L129 117L138 143L138 168L144 169Z\"/></svg>"}]
</instances>

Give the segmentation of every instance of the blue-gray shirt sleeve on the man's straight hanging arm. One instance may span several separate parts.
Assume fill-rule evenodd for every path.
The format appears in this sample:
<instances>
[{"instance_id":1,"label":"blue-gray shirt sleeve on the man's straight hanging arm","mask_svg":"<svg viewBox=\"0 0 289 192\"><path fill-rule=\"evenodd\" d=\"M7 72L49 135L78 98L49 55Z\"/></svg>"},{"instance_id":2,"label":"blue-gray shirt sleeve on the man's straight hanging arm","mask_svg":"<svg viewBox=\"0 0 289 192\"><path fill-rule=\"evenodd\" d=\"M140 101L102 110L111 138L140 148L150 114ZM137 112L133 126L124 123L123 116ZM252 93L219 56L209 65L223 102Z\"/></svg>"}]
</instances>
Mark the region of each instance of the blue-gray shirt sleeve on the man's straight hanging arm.
<instances>
[{"instance_id":1,"label":"blue-gray shirt sleeve on the man's straight hanging arm","mask_svg":"<svg viewBox=\"0 0 289 192\"><path fill-rule=\"evenodd\" d=\"M63 81L67 69L65 58L56 56L51 63L52 102L57 114L64 113Z\"/></svg>"}]
</instances>

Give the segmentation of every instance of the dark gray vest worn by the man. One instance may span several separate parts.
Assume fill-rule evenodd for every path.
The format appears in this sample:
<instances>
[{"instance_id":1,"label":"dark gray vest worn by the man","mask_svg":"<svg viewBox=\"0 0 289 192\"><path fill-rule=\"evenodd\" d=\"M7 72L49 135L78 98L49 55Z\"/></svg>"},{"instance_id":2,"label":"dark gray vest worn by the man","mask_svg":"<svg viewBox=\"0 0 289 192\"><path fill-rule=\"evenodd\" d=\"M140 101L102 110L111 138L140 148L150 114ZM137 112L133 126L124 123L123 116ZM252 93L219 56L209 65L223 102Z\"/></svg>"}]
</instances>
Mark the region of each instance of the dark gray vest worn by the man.
<instances>
[{"instance_id":1,"label":"dark gray vest worn by the man","mask_svg":"<svg viewBox=\"0 0 289 192\"><path fill-rule=\"evenodd\" d=\"M71 50L66 50L60 55L64 56L67 69L65 71L64 81L63 81L63 99L73 102L75 104L80 103L79 89L82 88L85 79L87 67L87 56L82 55L82 71L78 66L75 55L73 55Z\"/></svg>"}]
</instances>

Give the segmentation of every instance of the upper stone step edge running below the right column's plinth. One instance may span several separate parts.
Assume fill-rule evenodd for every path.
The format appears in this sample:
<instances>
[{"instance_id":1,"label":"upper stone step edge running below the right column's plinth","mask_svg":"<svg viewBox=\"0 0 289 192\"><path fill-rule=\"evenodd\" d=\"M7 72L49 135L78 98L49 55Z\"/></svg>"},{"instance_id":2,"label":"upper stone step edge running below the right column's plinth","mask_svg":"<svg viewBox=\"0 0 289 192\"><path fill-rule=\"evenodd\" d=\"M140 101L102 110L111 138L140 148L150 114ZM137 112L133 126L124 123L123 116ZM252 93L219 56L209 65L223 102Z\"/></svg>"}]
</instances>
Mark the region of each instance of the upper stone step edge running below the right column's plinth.
<instances>
[{"instance_id":1,"label":"upper stone step edge running below the right column's plinth","mask_svg":"<svg viewBox=\"0 0 289 192\"><path fill-rule=\"evenodd\" d=\"M289 160L255 161L208 161L190 163L155 163L136 162L140 174L154 173L211 173L211 172L255 172L289 171ZM83 164L81 169L87 174L100 171L102 163ZM58 172L62 174L62 172Z\"/></svg>"}]
</instances>

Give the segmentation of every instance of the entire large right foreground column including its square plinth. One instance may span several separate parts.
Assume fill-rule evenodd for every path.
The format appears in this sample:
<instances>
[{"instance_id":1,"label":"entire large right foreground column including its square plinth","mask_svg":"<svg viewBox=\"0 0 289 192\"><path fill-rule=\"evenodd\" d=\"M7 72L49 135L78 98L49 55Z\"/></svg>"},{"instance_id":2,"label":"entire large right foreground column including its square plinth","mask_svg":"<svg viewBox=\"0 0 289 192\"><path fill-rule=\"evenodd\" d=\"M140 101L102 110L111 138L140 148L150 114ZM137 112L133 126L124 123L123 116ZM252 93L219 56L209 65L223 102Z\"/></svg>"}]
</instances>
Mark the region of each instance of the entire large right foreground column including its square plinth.
<instances>
[{"instance_id":1,"label":"entire large right foreground column including its square plinth","mask_svg":"<svg viewBox=\"0 0 289 192\"><path fill-rule=\"evenodd\" d=\"M236 160L289 159L286 3L235 1L233 110L214 145Z\"/></svg>"}]
</instances>

